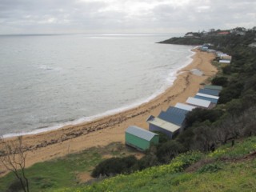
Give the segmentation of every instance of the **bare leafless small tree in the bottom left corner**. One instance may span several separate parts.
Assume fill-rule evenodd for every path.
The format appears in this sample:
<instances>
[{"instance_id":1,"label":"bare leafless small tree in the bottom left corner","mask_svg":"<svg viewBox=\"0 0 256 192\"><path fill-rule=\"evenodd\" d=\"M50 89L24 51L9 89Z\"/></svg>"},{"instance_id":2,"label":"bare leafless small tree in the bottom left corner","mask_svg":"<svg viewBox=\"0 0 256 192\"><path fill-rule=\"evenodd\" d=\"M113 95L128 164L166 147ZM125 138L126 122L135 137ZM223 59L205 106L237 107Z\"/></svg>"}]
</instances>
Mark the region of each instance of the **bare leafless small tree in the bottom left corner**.
<instances>
[{"instance_id":1,"label":"bare leafless small tree in the bottom left corner","mask_svg":"<svg viewBox=\"0 0 256 192\"><path fill-rule=\"evenodd\" d=\"M22 136L16 140L5 141L1 139L0 162L6 167L6 170L12 172L18 179L24 192L29 192L29 181L26 178L26 154L22 147Z\"/></svg>"}]
</instances>

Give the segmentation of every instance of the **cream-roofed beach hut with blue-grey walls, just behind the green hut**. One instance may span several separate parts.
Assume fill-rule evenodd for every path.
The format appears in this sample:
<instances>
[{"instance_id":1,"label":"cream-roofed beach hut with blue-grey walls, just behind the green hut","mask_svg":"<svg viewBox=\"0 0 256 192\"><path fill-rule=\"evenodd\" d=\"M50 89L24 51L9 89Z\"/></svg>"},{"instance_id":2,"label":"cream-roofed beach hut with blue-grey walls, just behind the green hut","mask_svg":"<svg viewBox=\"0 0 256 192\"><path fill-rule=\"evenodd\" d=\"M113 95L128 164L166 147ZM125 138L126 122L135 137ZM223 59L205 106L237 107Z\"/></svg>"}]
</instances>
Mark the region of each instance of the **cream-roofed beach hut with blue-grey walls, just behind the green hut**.
<instances>
[{"instance_id":1,"label":"cream-roofed beach hut with blue-grey walls, just behind the green hut","mask_svg":"<svg viewBox=\"0 0 256 192\"><path fill-rule=\"evenodd\" d=\"M180 129L180 126L177 126L171 122L166 122L161 118L155 118L152 115L150 115L146 122L149 123L150 131L159 131L163 134L166 134L169 138L172 138L174 134L178 134Z\"/></svg>"}]
</instances>

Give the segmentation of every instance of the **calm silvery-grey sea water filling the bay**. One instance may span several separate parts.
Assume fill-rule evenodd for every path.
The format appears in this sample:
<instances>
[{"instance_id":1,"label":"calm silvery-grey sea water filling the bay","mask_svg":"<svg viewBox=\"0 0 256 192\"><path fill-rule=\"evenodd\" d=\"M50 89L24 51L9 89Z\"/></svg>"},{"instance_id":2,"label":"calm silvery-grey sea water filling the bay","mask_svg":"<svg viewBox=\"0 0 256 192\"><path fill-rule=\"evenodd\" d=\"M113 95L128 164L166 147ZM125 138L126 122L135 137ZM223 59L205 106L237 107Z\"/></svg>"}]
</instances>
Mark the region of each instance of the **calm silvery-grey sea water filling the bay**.
<instances>
[{"instance_id":1,"label":"calm silvery-grey sea water filling the bay","mask_svg":"<svg viewBox=\"0 0 256 192\"><path fill-rule=\"evenodd\" d=\"M171 35L0 36L0 134L38 133L147 102L190 62Z\"/></svg>"}]
</instances>

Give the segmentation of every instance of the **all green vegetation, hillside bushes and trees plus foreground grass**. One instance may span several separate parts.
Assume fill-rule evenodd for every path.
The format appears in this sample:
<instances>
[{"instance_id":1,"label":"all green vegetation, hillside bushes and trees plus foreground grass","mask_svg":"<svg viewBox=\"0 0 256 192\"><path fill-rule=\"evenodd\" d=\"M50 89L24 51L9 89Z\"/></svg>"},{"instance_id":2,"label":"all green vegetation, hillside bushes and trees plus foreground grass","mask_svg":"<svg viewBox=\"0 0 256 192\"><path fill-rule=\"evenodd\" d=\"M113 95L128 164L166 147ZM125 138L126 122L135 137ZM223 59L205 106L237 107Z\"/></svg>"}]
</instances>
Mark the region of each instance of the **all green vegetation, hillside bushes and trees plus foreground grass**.
<instances>
[{"instance_id":1,"label":"all green vegetation, hillside bushes and trees plus foreground grass","mask_svg":"<svg viewBox=\"0 0 256 192\"><path fill-rule=\"evenodd\" d=\"M160 144L151 147L141 159L120 155L118 158L104 160L99 154L94 156L92 153L87 154L88 157L79 156L76 161L73 161L74 159L70 158L73 156L69 155L61 161L56 160L56 164L38 163L28 169L31 169L31 173L33 171L37 173L30 174L28 171L32 189L36 191L52 191L58 188L61 189L56 191L252 191L255 189L256 138L252 136L256 135L254 123L256 121L256 76L254 75L256 48L249 45L254 42L256 32L246 30L244 35L217 35L218 32L212 31L210 35L196 33L196 37L171 38L162 42L183 45L210 43L212 49L221 50L232 56L232 62L228 66L221 66L217 62L218 58L213 62L218 67L218 74L210 79L210 82L213 85L223 86L218 106L212 110L196 109L190 112L186 117L185 131L171 141L161 134ZM248 139L242 142L245 138ZM251 152L253 154L250 154ZM246 162L243 158L252 160ZM90 166L86 164L88 159L94 159ZM83 185L76 177L84 170L92 170L92 175L100 180L102 176L105 178L118 175L99 183L75 188ZM182 173L184 170L186 172ZM43 174L45 171L49 171L51 175ZM242 177L238 178L236 175ZM5 185L3 187L0 185L0 190L6 189L7 184L10 184L7 181L10 182L12 179L10 174L0 178L0 182ZM66 186L71 188L62 189Z\"/></svg>"}]
</instances>

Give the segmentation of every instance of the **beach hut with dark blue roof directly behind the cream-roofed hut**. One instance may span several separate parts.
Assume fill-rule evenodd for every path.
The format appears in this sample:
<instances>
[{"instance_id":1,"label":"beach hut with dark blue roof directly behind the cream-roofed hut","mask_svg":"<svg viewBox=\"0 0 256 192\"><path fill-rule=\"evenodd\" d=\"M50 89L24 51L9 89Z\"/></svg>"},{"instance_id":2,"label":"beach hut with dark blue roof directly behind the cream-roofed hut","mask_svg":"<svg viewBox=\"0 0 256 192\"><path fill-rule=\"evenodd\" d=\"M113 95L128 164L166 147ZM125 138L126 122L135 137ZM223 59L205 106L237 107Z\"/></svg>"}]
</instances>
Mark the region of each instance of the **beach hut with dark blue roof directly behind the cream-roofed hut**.
<instances>
[{"instance_id":1,"label":"beach hut with dark blue roof directly behind the cream-roofed hut","mask_svg":"<svg viewBox=\"0 0 256 192\"><path fill-rule=\"evenodd\" d=\"M180 108L170 106L168 110L162 111L158 118L162 118L166 122L174 123L177 126L182 126L183 122L186 118L186 114L188 113L188 110L182 110Z\"/></svg>"}]
</instances>

